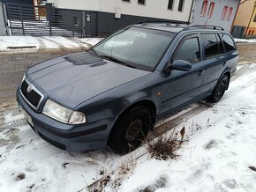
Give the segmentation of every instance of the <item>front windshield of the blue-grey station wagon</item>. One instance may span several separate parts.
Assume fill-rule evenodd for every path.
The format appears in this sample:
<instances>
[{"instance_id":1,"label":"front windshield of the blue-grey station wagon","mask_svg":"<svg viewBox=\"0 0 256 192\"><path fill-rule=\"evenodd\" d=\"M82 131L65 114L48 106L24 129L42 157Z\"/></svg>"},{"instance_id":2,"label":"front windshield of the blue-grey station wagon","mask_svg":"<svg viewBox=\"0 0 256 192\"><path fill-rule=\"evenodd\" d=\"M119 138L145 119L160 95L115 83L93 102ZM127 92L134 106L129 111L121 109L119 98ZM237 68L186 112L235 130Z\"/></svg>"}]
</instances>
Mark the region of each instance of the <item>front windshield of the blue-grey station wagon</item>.
<instances>
[{"instance_id":1,"label":"front windshield of the blue-grey station wagon","mask_svg":"<svg viewBox=\"0 0 256 192\"><path fill-rule=\"evenodd\" d=\"M154 29L130 27L114 33L92 51L133 68L154 70L174 35Z\"/></svg>"}]
</instances>

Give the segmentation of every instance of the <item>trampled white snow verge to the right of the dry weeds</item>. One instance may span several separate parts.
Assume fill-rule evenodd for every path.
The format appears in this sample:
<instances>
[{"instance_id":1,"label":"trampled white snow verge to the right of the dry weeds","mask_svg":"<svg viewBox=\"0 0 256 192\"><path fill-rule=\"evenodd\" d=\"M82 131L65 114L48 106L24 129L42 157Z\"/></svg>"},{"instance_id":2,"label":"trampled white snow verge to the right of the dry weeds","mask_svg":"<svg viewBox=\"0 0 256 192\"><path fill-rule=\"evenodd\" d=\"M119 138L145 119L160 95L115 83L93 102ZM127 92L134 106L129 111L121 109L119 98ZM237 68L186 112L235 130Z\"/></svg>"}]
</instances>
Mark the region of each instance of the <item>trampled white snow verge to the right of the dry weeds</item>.
<instances>
[{"instance_id":1,"label":"trampled white snow verge to the right of the dry weeds","mask_svg":"<svg viewBox=\"0 0 256 192\"><path fill-rule=\"evenodd\" d=\"M198 124L180 159L148 159L120 191L256 191L256 72L237 78L213 108L182 126ZM209 119L209 125L207 123ZM149 186L149 187L148 187ZM129 188L129 190L127 190Z\"/></svg>"}]
</instances>

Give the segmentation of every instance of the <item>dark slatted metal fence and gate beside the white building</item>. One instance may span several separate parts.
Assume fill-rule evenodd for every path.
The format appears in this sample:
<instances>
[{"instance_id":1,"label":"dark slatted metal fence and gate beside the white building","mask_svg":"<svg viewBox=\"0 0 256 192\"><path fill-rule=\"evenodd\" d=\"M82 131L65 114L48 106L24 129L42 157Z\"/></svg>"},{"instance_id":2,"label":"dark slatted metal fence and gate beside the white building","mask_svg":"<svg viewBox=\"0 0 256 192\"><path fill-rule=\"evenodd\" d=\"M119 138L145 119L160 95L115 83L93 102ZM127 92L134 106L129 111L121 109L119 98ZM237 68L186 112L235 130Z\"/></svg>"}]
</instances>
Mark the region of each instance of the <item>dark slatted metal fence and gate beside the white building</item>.
<instances>
[{"instance_id":1,"label":"dark slatted metal fence and gate beside the white building","mask_svg":"<svg viewBox=\"0 0 256 192\"><path fill-rule=\"evenodd\" d=\"M12 35L96 36L97 13L60 9L52 4L6 4Z\"/></svg>"}]
</instances>

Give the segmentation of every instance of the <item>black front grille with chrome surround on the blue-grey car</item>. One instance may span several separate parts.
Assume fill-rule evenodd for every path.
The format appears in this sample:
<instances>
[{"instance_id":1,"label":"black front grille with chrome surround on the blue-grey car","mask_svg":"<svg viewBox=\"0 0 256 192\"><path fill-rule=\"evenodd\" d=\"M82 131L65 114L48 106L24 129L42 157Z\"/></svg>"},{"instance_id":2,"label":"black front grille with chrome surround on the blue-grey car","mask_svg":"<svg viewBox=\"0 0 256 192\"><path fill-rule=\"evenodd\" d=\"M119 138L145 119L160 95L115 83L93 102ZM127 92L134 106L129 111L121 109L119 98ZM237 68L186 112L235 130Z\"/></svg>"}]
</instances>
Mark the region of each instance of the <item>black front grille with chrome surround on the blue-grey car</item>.
<instances>
[{"instance_id":1,"label":"black front grille with chrome surround on the blue-grey car","mask_svg":"<svg viewBox=\"0 0 256 192\"><path fill-rule=\"evenodd\" d=\"M34 107L34 109L38 109L40 102L42 100L43 95L41 94L41 92L39 92L34 85L32 85L32 89L28 92L27 91L27 87L30 84L28 83L27 80L24 80L21 87L20 87L20 91L23 94L23 97L26 99L26 101L28 102L28 104L30 104L30 106Z\"/></svg>"}]
</instances>

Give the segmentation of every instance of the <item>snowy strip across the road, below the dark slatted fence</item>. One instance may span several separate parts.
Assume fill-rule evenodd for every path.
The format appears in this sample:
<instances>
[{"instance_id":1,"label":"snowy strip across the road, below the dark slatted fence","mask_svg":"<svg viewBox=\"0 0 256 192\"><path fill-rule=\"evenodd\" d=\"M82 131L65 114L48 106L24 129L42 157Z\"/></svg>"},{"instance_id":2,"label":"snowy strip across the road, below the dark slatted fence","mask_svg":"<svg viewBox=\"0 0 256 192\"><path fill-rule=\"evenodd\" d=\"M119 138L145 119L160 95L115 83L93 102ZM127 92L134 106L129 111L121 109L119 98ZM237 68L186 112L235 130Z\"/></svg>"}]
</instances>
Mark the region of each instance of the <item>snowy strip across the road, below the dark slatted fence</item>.
<instances>
[{"instance_id":1,"label":"snowy strip across the road, below the dark slatted fence","mask_svg":"<svg viewBox=\"0 0 256 192\"><path fill-rule=\"evenodd\" d=\"M87 49L99 41L102 41L102 38L0 36L0 53L49 49Z\"/></svg>"}]
</instances>

